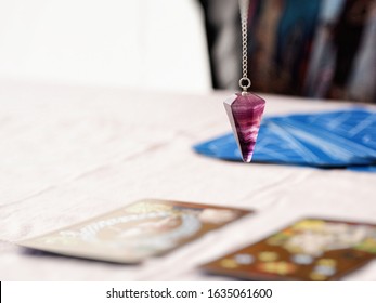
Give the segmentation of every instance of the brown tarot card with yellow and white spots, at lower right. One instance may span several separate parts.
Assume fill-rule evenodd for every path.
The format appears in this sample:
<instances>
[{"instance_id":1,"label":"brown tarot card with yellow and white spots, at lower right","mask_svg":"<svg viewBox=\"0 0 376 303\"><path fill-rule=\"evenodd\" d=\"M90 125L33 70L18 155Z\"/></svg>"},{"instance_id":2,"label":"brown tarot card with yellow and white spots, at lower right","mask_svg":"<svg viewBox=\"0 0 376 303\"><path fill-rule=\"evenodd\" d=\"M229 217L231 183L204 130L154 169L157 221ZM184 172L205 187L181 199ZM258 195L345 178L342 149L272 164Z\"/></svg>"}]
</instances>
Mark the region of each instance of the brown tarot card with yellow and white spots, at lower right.
<instances>
[{"instance_id":1,"label":"brown tarot card with yellow and white spots, at lower right","mask_svg":"<svg viewBox=\"0 0 376 303\"><path fill-rule=\"evenodd\" d=\"M376 225L304 219L202 266L249 280L338 280L376 256Z\"/></svg>"}]
</instances>

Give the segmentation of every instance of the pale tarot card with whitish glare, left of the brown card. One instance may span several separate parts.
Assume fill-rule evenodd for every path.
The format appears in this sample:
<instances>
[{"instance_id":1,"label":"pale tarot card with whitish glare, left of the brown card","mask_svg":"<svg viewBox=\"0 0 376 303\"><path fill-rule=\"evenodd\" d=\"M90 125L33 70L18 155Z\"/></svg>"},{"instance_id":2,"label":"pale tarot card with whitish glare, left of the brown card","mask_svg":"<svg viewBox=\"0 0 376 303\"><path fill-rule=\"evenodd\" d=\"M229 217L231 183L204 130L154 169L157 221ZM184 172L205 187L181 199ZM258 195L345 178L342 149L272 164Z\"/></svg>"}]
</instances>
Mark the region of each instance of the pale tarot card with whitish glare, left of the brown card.
<instances>
[{"instance_id":1,"label":"pale tarot card with whitish glare, left of the brown card","mask_svg":"<svg viewBox=\"0 0 376 303\"><path fill-rule=\"evenodd\" d=\"M18 245L83 259L139 263L248 213L235 208L146 199Z\"/></svg>"}]
</instances>

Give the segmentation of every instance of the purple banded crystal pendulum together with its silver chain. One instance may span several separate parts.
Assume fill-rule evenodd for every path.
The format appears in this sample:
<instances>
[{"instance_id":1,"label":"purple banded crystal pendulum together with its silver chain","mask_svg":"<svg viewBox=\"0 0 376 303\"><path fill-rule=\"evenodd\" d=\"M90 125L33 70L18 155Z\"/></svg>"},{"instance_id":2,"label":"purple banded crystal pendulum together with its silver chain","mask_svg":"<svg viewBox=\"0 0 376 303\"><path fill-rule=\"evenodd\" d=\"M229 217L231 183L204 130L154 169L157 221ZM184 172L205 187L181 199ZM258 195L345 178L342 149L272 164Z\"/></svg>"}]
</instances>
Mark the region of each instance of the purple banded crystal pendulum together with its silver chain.
<instances>
[{"instance_id":1,"label":"purple banded crystal pendulum together with its silver chain","mask_svg":"<svg viewBox=\"0 0 376 303\"><path fill-rule=\"evenodd\" d=\"M239 80L242 92L235 93L226 101L224 107L228 113L237 146L242 152L244 162L250 162L256 145L257 135L261 123L265 101L256 94L248 92L250 80L247 77L247 18L249 0L239 0L242 17L242 45L243 77Z\"/></svg>"}]
</instances>

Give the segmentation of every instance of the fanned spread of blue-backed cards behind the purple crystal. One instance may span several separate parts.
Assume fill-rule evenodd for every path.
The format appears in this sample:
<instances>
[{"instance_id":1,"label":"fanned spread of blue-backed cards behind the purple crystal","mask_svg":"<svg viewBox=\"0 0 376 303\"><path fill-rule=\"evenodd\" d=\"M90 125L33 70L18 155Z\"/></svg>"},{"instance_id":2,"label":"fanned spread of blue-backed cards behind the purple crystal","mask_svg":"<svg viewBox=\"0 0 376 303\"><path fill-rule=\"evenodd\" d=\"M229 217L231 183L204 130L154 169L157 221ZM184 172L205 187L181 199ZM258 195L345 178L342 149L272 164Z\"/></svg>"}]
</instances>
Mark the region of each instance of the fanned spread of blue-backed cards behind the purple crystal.
<instances>
[{"instance_id":1,"label":"fanned spread of blue-backed cards behind the purple crystal","mask_svg":"<svg viewBox=\"0 0 376 303\"><path fill-rule=\"evenodd\" d=\"M203 142L205 156L242 161L232 133ZM376 111L363 108L264 118L254 162L376 172Z\"/></svg>"}]
</instances>

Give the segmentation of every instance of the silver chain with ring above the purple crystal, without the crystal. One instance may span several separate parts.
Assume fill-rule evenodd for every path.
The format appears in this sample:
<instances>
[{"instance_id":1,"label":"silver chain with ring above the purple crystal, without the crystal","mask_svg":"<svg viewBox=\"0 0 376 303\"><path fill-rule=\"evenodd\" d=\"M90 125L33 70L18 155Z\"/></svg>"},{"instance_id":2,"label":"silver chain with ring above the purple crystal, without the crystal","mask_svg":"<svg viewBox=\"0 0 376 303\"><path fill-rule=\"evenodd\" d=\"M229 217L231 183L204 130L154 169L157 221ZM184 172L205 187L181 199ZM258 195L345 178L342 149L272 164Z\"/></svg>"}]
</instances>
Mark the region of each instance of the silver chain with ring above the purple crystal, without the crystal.
<instances>
[{"instance_id":1,"label":"silver chain with ring above the purple crystal, without the crystal","mask_svg":"<svg viewBox=\"0 0 376 303\"><path fill-rule=\"evenodd\" d=\"M241 21L242 21L242 69L243 77L238 81L239 87L244 92L251 85L251 82L248 78L248 8L249 0L238 0L241 9Z\"/></svg>"}]
</instances>

